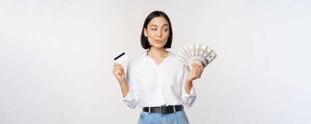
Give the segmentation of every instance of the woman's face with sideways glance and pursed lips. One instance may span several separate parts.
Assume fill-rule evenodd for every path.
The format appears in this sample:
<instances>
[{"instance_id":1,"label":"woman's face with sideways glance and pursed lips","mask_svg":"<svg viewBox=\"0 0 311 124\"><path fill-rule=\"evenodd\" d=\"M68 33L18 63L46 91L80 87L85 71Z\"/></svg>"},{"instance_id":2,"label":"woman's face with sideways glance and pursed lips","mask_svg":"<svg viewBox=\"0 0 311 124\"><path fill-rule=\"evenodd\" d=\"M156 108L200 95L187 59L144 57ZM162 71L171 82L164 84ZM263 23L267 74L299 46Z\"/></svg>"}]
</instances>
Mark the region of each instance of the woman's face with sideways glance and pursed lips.
<instances>
[{"instance_id":1,"label":"woman's face with sideways glance and pursed lips","mask_svg":"<svg viewBox=\"0 0 311 124\"><path fill-rule=\"evenodd\" d=\"M148 38L151 47L163 48L169 35L168 22L164 17L155 17L150 20L144 35Z\"/></svg>"}]
</instances>

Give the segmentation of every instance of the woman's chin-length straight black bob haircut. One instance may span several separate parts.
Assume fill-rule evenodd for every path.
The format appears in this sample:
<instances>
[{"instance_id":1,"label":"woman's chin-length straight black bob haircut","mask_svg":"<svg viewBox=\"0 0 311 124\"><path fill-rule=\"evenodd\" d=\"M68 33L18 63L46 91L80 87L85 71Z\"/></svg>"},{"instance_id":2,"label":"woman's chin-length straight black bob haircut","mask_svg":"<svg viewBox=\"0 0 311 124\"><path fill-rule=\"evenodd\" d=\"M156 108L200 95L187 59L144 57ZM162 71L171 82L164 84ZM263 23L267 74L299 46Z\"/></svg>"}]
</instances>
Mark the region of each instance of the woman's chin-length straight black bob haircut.
<instances>
[{"instance_id":1,"label":"woman's chin-length straight black bob haircut","mask_svg":"<svg viewBox=\"0 0 311 124\"><path fill-rule=\"evenodd\" d=\"M168 37L168 39L167 39L166 44L164 45L164 48L165 48L165 49L171 48L172 39L173 39L172 26L171 26L171 24L170 24L170 20L169 20L168 16L167 16L164 12L162 12L162 11L153 11L153 12L151 12L151 13L147 16L147 18L146 18L146 20L145 20L145 22L144 22L144 27L143 27L143 31L142 31L142 35L141 35L141 44L142 44L142 47L143 47L144 49L149 49L149 48L151 47L150 44L149 44L149 42L148 42L148 38L144 35L144 29L145 29L145 28L147 29L148 23L149 23L153 18L155 18L155 17L164 17L164 18L167 20L168 26L169 26L169 35L168 35L169 37Z\"/></svg>"}]
</instances>

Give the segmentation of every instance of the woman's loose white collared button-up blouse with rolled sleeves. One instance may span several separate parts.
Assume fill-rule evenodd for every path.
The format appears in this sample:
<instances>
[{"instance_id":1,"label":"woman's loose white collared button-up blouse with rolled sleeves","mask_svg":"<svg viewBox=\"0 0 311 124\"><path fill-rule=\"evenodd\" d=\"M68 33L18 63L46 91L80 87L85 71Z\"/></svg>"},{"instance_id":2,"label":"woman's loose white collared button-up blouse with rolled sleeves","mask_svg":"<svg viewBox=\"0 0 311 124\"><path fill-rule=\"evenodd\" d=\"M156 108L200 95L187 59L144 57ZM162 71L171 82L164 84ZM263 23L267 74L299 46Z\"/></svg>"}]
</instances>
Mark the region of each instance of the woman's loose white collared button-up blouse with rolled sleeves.
<instances>
[{"instance_id":1,"label":"woman's loose white collared button-up blouse with rolled sleeves","mask_svg":"<svg viewBox=\"0 0 311 124\"><path fill-rule=\"evenodd\" d=\"M168 51L169 52L169 51ZM190 95L184 89L189 67L176 61L177 56L169 52L159 65L147 51L131 59L127 66L126 81L130 88L123 101L130 107L159 107L184 104L191 107L196 99L192 86Z\"/></svg>"}]
</instances>

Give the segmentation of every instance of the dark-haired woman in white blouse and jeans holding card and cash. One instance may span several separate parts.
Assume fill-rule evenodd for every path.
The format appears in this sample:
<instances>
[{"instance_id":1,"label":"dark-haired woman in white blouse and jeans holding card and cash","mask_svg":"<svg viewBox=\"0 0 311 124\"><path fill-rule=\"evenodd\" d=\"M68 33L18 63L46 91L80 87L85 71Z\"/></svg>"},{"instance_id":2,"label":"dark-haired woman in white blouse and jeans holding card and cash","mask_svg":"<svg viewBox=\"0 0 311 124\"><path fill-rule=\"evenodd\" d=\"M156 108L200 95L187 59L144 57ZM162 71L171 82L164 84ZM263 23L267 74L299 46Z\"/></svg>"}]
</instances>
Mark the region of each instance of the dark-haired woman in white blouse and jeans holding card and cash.
<instances>
[{"instance_id":1,"label":"dark-haired woman in white blouse and jeans holding card and cash","mask_svg":"<svg viewBox=\"0 0 311 124\"><path fill-rule=\"evenodd\" d=\"M183 105L193 105L192 81L201 77L203 65L193 63L189 71L177 62L177 56L166 51L172 36L168 16L154 11L147 16L141 35L141 45L148 50L128 62L126 78L121 64L114 63L122 99L130 108L138 104L143 108L138 124L189 124Z\"/></svg>"}]
</instances>

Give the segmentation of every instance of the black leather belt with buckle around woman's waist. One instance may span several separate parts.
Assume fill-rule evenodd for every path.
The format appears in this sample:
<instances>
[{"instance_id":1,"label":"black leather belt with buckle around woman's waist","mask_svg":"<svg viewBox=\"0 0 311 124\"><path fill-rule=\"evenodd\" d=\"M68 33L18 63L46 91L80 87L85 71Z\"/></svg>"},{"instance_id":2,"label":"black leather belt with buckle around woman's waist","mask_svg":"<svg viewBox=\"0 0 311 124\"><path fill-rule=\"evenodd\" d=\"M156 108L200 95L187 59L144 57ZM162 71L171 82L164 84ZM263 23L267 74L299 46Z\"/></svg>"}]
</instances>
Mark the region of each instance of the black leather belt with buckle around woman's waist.
<instances>
[{"instance_id":1,"label":"black leather belt with buckle around woman's waist","mask_svg":"<svg viewBox=\"0 0 311 124\"><path fill-rule=\"evenodd\" d=\"M175 111L174 111L174 106L145 107L143 108L143 111L149 112L149 108L150 108L150 113L160 113L161 115L178 112L184 109L182 105L179 105L179 106L175 106Z\"/></svg>"}]
</instances>

